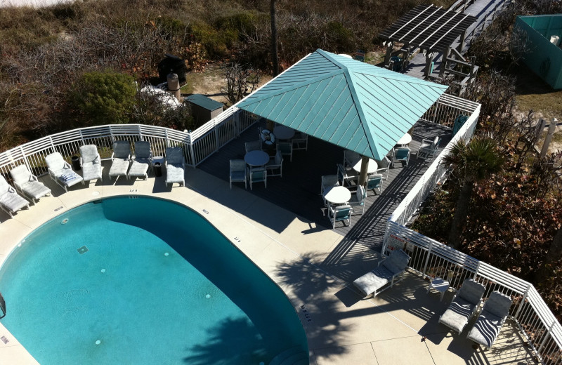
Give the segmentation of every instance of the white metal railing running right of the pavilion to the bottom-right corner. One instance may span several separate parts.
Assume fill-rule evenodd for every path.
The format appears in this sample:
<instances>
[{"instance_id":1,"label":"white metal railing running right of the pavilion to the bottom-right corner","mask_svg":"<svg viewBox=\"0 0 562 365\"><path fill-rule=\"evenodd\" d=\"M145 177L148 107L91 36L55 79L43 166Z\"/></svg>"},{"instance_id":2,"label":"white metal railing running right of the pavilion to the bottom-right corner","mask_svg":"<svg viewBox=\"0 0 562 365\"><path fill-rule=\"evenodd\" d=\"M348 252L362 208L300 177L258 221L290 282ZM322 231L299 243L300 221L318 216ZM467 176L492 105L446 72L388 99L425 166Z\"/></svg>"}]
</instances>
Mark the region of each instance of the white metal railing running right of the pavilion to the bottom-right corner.
<instances>
[{"instance_id":1,"label":"white metal railing running right of the pavilion to the bottom-right corner","mask_svg":"<svg viewBox=\"0 0 562 365\"><path fill-rule=\"evenodd\" d=\"M459 113L458 109L455 110L459 107L455 101L447 96L442 105L436 105L424 119L440 122L444 115L454 119ZM460 107L469 112L471 105ZM537 357L543 364L562 364L562 326L532 284L405 227L445 175L446 168L441 163L443 157L450 153L458 140L469 140L473 135L479 112L478 105L392 213L386 225L383 253L403 248L411 256L410 268L424 277L451 277L453 288L459 288L464 279L471 277L486 286L485 298L496 290L511 296L514 305L509 313Z\"/></svg>"}]
</instances>

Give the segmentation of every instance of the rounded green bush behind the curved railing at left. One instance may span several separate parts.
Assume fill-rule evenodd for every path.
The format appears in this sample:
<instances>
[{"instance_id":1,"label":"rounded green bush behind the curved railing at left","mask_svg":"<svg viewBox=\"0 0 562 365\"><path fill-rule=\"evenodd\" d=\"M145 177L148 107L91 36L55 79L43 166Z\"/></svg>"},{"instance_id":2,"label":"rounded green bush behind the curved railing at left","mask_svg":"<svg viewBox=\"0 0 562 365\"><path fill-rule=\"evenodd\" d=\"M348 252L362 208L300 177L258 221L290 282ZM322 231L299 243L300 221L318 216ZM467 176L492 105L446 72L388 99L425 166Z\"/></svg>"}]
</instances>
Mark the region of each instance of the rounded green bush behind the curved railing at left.
<instances>
[{"instance_id":1,"label":"rounded green bush behind the curved railing at left","mask_svg":"<svg viewBox=\"0 0 562 365\"><path fill-rule=\"evenodd\" d=\"M84 124L129 122L135 102L133 77L117 72L86 72L69 93L70 102Z\"/></svg>"}]
</instances>

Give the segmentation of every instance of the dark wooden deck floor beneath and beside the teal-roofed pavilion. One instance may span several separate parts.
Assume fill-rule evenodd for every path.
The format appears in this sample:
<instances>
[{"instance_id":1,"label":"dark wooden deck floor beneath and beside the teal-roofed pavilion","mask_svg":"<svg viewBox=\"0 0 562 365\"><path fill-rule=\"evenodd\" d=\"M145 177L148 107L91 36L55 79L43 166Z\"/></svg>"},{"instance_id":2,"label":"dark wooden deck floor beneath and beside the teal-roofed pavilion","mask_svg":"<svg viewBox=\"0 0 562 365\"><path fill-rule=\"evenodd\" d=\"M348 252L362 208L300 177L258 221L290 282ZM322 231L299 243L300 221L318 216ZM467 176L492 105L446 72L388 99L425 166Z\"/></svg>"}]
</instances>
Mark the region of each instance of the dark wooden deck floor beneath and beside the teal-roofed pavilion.
<instances>
[{"instance_id":1,"label":"dark wooden deck floor beneath and beside the teal-roofed pavilion","mask_svg":"<svg viewBox=\"0 0 562 365\"><path fill-rule=\"evenodd\" d=\"M213 154L197 168L211 175L228 181L228 165L230 159L244 158L244 142L258 138L258 125L251 126L237 138ZM384 236L386 220L402 201L414 184L419 180L431 160L416 159L416 152L422 138L434 138L440 135L443 148L451 138L450 128L419 121L414 128L410 149L412 155L410 164L391 168L388 180L384 181L382 193L375 195L367 192L365 214L353 215L351 227L343 223L336 224L336 232L346 239L363 241L367 246L379 245ZM308 150L298 150L293 153L293 160L285 157L283 162L283 176L268 178L267 188L263 183L254 184L252 194L271 203L310 220L315 225L328 229L332 228L325 215L322 197L320 196L320 177L336 174L336 164L344 160L344 150L317 138L308 138ZM237 187L244 187L242 183L233 183ZM233 187L234 188L234 187ZM248 187L248 191L250 191Z\"/></svg>"}]
</instances>

